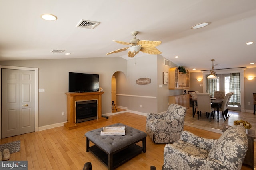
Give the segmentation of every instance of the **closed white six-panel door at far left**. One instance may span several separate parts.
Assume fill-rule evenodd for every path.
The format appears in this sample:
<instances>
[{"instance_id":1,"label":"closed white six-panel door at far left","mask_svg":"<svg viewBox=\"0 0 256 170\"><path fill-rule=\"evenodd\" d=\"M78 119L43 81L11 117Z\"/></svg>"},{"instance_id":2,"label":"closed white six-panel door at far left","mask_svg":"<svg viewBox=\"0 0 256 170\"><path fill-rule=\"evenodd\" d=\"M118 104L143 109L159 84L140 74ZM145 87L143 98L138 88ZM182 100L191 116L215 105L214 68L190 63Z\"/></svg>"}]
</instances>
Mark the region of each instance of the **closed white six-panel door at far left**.
<instances>
[{"instance_id":1,"label":"closed white six-panel door at far left","mask_svg":"<svg viewBox=\"0 0 256 170\"><path fill-rule=\"evenodd\" d=\"M2 69L2 138L35 131L35 71Z\"/></svg>"}]
</instances>

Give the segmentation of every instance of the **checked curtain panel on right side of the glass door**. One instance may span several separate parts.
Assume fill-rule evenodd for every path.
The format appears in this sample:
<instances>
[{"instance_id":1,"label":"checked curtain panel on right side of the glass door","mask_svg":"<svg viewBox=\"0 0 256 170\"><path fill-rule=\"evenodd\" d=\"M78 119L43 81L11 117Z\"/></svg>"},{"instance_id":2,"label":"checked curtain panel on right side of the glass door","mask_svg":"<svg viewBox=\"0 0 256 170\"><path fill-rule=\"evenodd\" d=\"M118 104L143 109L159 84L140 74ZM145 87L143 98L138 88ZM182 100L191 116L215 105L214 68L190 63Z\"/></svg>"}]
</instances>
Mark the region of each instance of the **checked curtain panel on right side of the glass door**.
<instances>
[{"instance_id":1,"label":"checked curtain panel on right side of the glass door","mask_svg":"<svg viewBox=\"0 0 256 170\"><path fill-rule=\"evenodd\" d=\"M240 106L240 73L230 73L229 91L234 93L229 100L229 105Z\"/></svg>"}]
</instances>

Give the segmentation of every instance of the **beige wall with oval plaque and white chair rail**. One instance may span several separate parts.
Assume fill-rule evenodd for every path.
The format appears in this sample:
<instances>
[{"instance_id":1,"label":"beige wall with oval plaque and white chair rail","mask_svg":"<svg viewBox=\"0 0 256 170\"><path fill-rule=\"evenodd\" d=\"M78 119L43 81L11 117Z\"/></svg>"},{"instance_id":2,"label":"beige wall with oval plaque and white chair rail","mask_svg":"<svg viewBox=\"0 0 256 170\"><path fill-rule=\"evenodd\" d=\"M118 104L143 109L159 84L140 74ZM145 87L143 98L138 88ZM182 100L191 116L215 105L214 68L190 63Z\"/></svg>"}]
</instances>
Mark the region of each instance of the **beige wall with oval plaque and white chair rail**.
<instances>
[{"instance_id":1,"label":"beige wall with oval plaque and white chair rail","mask_svg":"<svg viewBox=\"0 0 256 170\"><path fill-rule=\"evenodd\" d=\"M156 113L156 85L157 85L156 55L134 57L127 61L127 75L116 76L116 96L118 106L127 107L129 110L140 113ZM139 78L150 78L151 83L139 85ZM141 107L140 107L141 106Z\"/></svg>"}]
</instances>

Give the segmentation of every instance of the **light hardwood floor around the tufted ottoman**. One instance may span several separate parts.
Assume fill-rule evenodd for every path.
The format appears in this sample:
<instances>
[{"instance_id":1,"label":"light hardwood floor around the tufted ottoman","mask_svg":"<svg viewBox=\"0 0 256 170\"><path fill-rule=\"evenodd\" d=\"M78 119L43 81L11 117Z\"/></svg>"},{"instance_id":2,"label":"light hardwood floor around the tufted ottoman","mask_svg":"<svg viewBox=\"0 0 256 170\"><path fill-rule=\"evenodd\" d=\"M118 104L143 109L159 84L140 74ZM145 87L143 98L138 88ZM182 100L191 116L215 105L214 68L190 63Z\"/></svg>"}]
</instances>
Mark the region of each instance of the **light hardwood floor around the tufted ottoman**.
<instances>
[{"instance_id":1,"label":"light hardwood floor around the tufted ottoman","mask_svg":"<svg viewBox=\"0 0 256 170\"><path fill-rule=\"evenodd\" d=\"M10 160L27 160L28 169L82 170L85 162L91 162L93 170L107 170L108 168L93 154L86 152L86 138L84 134L92 129L114 123L124 123L146 132L146 117L126 112L112 115L106 121L86 125L77 129L68 130L65 127L56 127L44 131L4 138L0 140L0 144L20 140L21 150L20 152L11 154ZM221 135L220 133L186 125L184 129L196 135L212 139L218 139ZM139 142L138 145L142 146L142 143ZM151 165L156 166L157 170L161 170L164 146L165 144L155 144L150 137L146 137L146 153L142 152L116 168L116 170L150 170ZM250 168L246 166L242 167L242 170L248 169Z\"/></svg>"}]
</instances>

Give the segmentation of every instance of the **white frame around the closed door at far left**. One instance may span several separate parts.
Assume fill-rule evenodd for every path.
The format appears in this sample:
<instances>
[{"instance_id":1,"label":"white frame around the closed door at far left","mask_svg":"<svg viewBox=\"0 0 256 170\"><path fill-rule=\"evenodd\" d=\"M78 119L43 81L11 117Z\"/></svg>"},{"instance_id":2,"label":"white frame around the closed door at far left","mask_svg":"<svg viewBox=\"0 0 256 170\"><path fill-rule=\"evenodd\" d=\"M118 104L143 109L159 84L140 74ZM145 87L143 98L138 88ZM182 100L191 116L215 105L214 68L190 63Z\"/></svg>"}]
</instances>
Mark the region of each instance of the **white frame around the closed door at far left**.
<instances>
[{"instance_id":1,"label":"white frame around the closed door at far left","mask_svg":"<svg viewBox=\"0 0 256 170\"><path fill-rule=\"evenodd\" d=\"M38 127L38 68L30 68L30 67L18 67L18 66L1 66L0 65L0 93L1 93L1 98L0 98L0 103L2 104L2 68L3 69L12 69L12 70L30 70L30 71L35 71L35 132L39 131ZM2 106L0 104L0 137L2 136Z\"/></svg>"}]
</instances>

